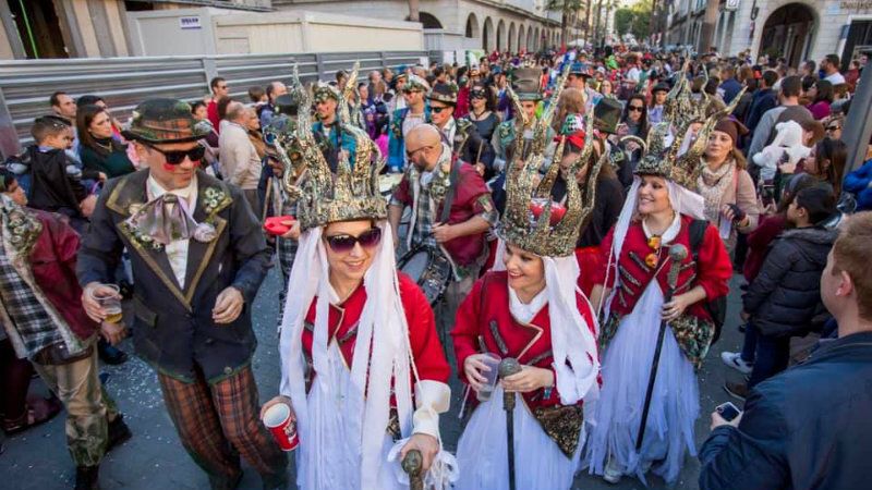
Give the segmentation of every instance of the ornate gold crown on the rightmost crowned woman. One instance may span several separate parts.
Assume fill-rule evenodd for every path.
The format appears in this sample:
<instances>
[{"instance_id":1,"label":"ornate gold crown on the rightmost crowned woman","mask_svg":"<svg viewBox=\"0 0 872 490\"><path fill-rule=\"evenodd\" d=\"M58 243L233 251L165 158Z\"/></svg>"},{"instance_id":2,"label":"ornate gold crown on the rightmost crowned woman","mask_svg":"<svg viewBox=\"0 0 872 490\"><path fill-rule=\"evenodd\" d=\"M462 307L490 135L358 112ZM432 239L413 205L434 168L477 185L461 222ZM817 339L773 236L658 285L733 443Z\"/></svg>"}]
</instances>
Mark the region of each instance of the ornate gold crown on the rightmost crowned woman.
<instances>
[{"instance_id":1,"label":"ornate gold crown on the rightmost crowned woman","mask_svg":"<svg viewBox=\"0 0 872 490\"><path fill-rule=\"evenodd\" d=\"M635 168L637 175L661 175L688 189L697 188L697 179L702 172L702 156L708 144L708 135L722 118L732 113L739 103L744 88L737 95L729 106L715 111L705 118L702 127L691 134L690 126L699 119L679 114L673 120L664 120L654 124L647 134L647 149L642 161ZM693 137L692 142L687 142ZM669 139L671 138L671 144ZM686 150L682 152L682 149Z\"/></svg>"}]
</instances>

